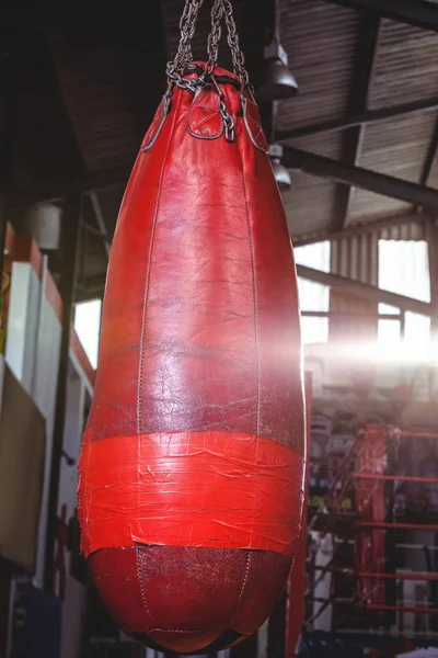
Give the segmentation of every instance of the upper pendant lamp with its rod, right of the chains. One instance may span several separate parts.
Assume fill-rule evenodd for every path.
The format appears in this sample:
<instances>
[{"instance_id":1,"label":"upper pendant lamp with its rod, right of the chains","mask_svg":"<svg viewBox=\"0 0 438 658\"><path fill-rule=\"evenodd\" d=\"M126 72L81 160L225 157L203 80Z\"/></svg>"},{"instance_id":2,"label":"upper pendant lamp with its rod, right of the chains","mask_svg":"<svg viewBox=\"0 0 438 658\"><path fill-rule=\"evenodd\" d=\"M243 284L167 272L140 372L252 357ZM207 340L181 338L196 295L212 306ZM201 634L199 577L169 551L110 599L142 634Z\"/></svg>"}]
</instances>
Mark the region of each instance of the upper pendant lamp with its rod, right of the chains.
<instances>
[{"instance_id":1,"label":"upper pendant lamp with its rod, right of the chains","mask_svg":"<svg viewBox=\"0 0 438 658\"><path fill-rule=\"evenodd\" d=\"M257 87L262 101L285 101L298 93L298 84L288 63L288 56L280 43L280 0L275 2L274 38L265 48L265 70L263 82Z\"/></svg>"}]
</instances>

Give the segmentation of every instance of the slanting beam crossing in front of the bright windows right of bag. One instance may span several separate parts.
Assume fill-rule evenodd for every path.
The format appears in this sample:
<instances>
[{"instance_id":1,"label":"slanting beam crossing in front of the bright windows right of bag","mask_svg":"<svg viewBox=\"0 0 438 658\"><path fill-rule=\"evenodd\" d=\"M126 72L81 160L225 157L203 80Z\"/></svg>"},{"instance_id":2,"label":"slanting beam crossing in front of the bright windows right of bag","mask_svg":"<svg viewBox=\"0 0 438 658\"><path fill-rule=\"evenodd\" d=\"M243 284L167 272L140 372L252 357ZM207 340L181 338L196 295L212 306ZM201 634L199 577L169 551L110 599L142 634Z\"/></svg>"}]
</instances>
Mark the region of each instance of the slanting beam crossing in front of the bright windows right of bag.
<instances>
[{"instance_id":1,"label":"slanting beam crossing in front of the bright windows right of bag","mask_svg":"<svg viewBox=\"0 0 438 658\"><path fill-rule=\"evenodd\" d=\"M419 302L412 297L405 297L404 295L397 295L383 291L368 283L361 283L347 276L339 276L338 274L330 274L328 272L322 272L321 270L313 270L304 265L297 265L297 274L301 279L307 281L313 281L321 285L326 285L332 288L341 288L345 292L371 299L378 304L388 304L389 306L396 306L402 310L416 313L423 316L430 317L433 309L430 304L426 302Z\"/></svg>"}]
</instances>

